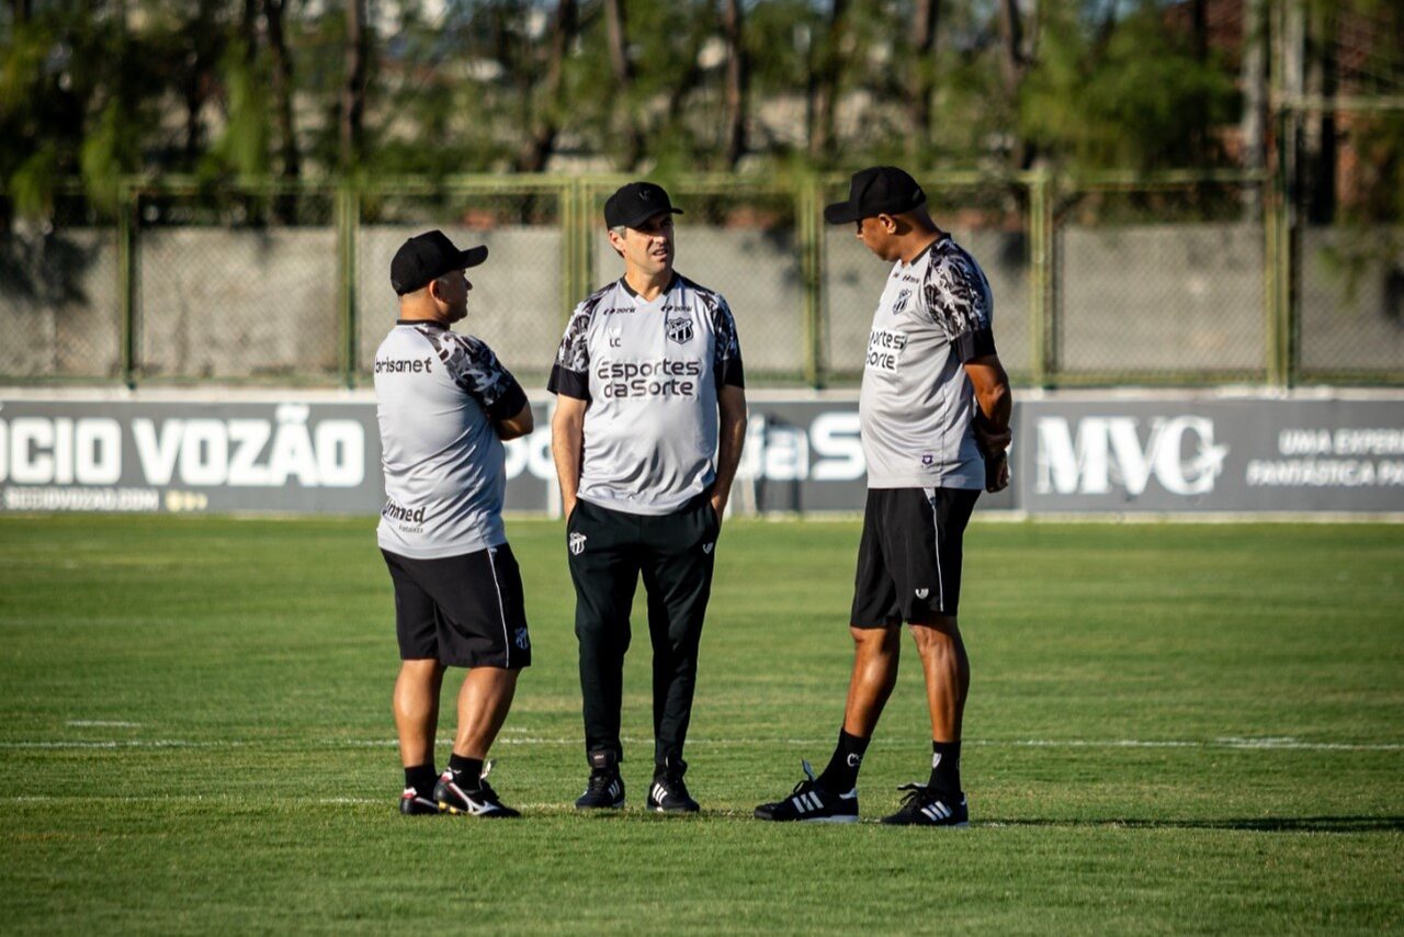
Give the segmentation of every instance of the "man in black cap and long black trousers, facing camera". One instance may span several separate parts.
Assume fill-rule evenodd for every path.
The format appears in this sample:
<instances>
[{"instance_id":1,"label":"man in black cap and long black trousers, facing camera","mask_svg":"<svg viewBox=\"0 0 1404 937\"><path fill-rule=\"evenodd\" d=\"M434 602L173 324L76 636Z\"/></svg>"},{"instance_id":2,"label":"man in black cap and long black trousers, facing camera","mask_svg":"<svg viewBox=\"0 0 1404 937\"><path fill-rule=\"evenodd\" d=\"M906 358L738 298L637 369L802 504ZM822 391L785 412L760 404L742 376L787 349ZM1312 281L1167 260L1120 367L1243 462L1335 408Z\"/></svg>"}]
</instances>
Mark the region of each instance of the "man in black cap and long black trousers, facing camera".
<instances>
[{"instance_id":1,"label":"man in black cap and long black trousers, facing camera","mask_svg":"<svg viewBox=\"0 0 1404 937\"><path fill-rule=\"evenodd\" d=\"M576 308L549 382L590 761L580 809L625 802L619 708L640 575L653 642L646 806L698 809L682 781L682 743L716 538L746 435L746 392L726 301L673 270L675 214L651 183L609 197L605 225L623 277Z\"/></svg>"}]
</instances>

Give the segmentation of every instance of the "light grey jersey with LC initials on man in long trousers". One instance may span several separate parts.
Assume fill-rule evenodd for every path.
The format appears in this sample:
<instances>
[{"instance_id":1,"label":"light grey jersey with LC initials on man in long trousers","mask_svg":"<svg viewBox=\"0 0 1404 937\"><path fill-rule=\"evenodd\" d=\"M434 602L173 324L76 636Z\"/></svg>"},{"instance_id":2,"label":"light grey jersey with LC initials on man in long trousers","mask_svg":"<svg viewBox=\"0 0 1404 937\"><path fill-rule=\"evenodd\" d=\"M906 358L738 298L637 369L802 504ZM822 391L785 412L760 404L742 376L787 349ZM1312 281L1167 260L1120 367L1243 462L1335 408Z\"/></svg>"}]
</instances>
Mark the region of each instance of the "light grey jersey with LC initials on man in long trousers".
<instances>
[{"instance_id":1,"label":"light grey jersey with LC initials on man in long trousers","mask_svg":"<svg viewBox=\"0 0 1404 937\"><path fill-rule=\"evenodd\" d=\"M720 294L674 274L653 302L621 277L576 306L548 389L588 400L578 494L671 514L716 478L722 385L746 386Z\"/></svg>"}]
</instances>

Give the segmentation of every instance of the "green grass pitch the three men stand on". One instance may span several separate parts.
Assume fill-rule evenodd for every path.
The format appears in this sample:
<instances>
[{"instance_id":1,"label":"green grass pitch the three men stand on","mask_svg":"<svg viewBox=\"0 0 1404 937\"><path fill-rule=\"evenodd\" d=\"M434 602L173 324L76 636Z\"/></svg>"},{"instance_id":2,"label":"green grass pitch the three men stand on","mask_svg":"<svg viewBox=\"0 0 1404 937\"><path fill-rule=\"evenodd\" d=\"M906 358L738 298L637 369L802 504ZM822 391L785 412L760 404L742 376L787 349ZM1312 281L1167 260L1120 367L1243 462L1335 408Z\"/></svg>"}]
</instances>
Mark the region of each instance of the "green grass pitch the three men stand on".
<instances>
[{"instance_id":1,"label":"green grass pitch the three men stand on","mask_svg":"<svg viewBox=\"0 0 1404 937\"><path fill-rule=\"evenodd\" d=\"M750 819L840 722L858 524L819 521L726 528L688 747L698 818L639 809L642 617L630 806L570 809L585 764L563 535L510 523L536 666L493 781L526 816L402 818L372 531L0 518L7 933L1404 929L1404 527L973 525L967 830ZM929 759L906 652L868 819Z\"/></svg>"}]
</instances>

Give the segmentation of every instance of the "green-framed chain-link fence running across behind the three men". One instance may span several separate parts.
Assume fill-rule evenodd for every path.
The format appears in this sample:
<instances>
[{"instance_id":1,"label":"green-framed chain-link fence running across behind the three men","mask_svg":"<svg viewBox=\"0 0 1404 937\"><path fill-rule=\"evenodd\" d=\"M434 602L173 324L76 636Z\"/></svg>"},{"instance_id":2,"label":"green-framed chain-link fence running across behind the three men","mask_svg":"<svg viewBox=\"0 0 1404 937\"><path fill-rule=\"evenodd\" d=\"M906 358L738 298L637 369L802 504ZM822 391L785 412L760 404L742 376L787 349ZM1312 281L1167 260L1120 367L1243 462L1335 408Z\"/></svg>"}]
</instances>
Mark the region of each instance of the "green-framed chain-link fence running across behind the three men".
<instances>
[{"instance_id":1,"label":"green-framed chain-link fence running across behind the three men","mask_svg":"<svg viewBox=\"0 0 1404 937\"><path fill-rule=\"evenodd\" d=\"M115 219L63 195L0 240L0 379L364 386L390 257L441 228L490 250L461 327L541 388L570 309L622 271L602 221L621 181L133 183ZM1404 382L1404 230L1283 237L1271 181L921 180L990 277L1019 384ZM678 270L730 302L753 386L852 386L889 266L823 223L847 178L667 185Z\"/></svg>"}]
</instances>

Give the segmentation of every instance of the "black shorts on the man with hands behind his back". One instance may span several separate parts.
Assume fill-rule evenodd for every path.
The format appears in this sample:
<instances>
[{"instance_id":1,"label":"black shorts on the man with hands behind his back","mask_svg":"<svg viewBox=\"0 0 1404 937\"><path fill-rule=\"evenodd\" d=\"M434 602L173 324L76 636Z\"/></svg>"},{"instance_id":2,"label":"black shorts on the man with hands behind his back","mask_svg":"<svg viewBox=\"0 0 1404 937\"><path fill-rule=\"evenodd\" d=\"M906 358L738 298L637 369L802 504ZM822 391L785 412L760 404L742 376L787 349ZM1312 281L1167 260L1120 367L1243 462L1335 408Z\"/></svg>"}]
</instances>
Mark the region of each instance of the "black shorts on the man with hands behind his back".
<instances>
[{"instance_id":1,"label":"black shorts on the man with hands behind his back","mask_svg":"<svg viewBox=\"0 0 1404 937\"><path fill-rule=\"evenodd\" d=\"M854 582L854 628L890 628L960 605L960 541L979 490L868 489Z\"/></svg>"}]
</instances>

